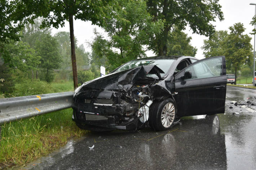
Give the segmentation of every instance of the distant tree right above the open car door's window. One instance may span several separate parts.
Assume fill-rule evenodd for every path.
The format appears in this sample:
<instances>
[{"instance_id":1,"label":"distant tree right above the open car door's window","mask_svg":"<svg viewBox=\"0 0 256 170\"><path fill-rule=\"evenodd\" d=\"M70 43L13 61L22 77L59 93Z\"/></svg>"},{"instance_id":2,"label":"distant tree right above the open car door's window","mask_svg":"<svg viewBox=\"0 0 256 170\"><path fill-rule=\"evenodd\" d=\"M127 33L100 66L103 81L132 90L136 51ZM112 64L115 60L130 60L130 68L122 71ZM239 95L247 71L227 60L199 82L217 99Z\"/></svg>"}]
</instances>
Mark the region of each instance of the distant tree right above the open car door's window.
<instances>
[{"instance_id":1,"label":"distant tree right above the open car door's window","mask_svg":"<svg viewBox=\"0 0 256 170\"><path fill-rule=\"evenodd\" d=\"M201 47L204 50L205 58L212 56L224 55L223 48L224 39L228 37L228 31L216 31L209 40L204 40L204 45Z\"/></svg>"}]
</instances>

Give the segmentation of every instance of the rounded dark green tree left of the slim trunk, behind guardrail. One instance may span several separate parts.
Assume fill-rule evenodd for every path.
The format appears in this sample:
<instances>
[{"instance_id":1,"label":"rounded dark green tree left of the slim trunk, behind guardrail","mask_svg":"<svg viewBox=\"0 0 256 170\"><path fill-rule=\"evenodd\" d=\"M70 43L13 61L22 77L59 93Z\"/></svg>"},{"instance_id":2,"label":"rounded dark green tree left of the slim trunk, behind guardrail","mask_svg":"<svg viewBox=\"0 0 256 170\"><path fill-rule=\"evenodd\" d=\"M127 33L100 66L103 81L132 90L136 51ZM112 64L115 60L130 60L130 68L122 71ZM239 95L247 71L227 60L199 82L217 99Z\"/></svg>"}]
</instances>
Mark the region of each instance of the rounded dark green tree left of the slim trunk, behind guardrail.
<instances>
[{"instance_id":1,"label":"rounded dark green tree left of the slim trunk, behind guardrail","mask_svg":"<svg viewBox=\"0 0 256 170\"><path fill-rule=\"evenodd\" d=\"M61 56L59 55L58 42L56 38L47 34L36 41L35 49L38 55L41 56L39 68L45 69L45 81L52 81L51 72L53 69L58 69L61 66Z\"/></svg>"}]
</instances>

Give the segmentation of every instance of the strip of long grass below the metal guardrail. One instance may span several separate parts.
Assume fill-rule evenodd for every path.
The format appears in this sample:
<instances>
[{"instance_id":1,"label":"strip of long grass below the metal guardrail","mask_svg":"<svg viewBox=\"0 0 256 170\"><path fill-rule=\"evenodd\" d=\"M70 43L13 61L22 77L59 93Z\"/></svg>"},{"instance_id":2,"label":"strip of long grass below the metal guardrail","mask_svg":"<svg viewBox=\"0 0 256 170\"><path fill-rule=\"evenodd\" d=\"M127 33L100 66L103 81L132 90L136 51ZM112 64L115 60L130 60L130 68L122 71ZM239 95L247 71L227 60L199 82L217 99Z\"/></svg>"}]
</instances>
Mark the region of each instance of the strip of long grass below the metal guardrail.
<instances>
[{"instance_id":1,"label":"strip of long grass below the metal guardrail","mask_svg":"<svg viewBox=\"0 0 256 170\"><path fill-rule=\"evenodd\" d=\"M34 161L84 135L71 116L72 109L65 109L1 125L0 169Z\"/></svg>"}]
</instances>

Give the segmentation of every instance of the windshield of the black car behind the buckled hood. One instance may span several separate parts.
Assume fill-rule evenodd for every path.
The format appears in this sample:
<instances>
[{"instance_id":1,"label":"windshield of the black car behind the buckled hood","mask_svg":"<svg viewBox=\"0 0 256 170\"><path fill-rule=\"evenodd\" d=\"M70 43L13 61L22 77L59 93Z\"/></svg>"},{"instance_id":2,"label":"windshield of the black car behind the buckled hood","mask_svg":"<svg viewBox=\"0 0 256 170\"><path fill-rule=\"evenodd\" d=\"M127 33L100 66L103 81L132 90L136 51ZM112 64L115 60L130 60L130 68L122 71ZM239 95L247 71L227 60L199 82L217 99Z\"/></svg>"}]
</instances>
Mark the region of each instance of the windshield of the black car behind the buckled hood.
<instances>
[{"instance_id":1,"label":"windshield of the black car behind the buckled hood","mask_svg":"<svg viewBox=\"0 0 256 170\"><path fill-rule=\"evenodd\" d=\"M173 61L175 61L175 60L174 59L133 60L133 61L130 61L130 62L124 64L123 66L121 66L120 68L115 70L115 72L132 69L132 68L135 68L135 67L141 66L141 65L156 65L161 70L163 70L164 73L161 73L161 77L162 77L163 75L165 75L168 72L168 70L169 70L171 64L173 63ZM147 76L156 77L155 74L148 74Z\"/></svg>"}]
</instances>

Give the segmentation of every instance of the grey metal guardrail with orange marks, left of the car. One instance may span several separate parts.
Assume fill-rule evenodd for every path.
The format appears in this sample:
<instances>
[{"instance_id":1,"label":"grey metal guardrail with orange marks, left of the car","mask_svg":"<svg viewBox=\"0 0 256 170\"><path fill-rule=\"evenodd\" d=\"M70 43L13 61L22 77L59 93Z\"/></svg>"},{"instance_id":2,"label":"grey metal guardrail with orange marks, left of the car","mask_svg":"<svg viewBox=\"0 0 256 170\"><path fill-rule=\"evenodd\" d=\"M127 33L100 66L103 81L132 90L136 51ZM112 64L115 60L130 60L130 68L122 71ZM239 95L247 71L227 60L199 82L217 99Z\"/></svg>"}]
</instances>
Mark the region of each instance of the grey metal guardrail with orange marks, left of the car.
<instances>
[{"instance_id":1,"label":"grey metal guardrail with orange marks, left of the car","mask_svg":"<svg viewBox=\"0 0 256 170\"><path fill-rule=\"evenodd\" d=\"M72 106L74 92L0 99L0 124Z\"/></svg>"}]
</instances>

